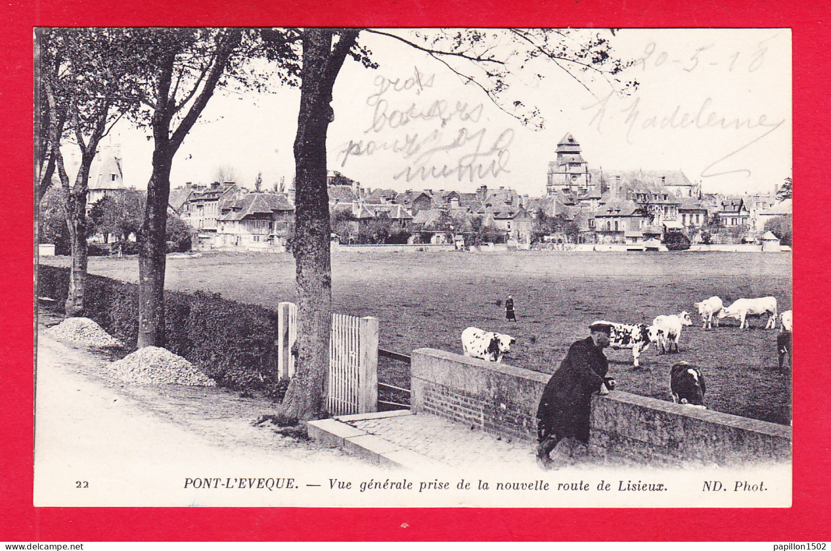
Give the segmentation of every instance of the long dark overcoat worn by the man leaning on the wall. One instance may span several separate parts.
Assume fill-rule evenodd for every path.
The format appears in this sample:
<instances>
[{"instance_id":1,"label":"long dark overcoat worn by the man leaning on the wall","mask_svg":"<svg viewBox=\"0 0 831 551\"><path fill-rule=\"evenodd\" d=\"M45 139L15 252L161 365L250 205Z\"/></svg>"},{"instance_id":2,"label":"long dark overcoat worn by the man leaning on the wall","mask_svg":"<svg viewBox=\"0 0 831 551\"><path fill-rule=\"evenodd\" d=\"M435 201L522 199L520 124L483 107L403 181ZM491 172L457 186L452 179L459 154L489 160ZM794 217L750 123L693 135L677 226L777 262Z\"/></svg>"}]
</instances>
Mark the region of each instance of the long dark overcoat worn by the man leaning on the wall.
<instances>
[{"instance_id":1,"label":"long dark overcoat worn by the man leaning on the wall","mask_svg":"<svg viewBox=\"0 0 831 551\"><path fill-rule=\"evenodd\" d=\"M588 416L593 392L600 390L609 364L592 337L575 342L548 379L537 418L542 440L548 434L588 442Z\"/></svg>"}]
</instances>

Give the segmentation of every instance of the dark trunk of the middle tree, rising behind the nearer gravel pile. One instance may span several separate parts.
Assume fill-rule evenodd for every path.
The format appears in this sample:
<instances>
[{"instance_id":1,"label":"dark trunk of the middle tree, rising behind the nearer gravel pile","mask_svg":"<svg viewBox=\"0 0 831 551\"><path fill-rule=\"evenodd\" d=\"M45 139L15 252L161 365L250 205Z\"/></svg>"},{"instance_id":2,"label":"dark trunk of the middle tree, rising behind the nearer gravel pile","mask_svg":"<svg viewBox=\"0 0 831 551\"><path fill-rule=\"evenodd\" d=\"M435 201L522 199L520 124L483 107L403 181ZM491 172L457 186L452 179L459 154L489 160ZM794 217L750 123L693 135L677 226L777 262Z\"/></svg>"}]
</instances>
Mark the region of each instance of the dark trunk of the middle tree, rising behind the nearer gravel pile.
<instances>
[{"instance_id":1,"label":"dark trunk of the middle tree, rising behind the nearer gravel pile","mask_svg":"<svg viewBox=\"0 0 831 551\"><path fill-rule=\"evenodd\" d=\"M166 133L167 130L165 129ZM158 137L158 136L157 136ZM156 140L153 174L147 184L145 219L139 254L139 338L137 346L165 345L165 268L167 264L167 201L173 154L165 140Z\"/></svg>"}]
</instances>

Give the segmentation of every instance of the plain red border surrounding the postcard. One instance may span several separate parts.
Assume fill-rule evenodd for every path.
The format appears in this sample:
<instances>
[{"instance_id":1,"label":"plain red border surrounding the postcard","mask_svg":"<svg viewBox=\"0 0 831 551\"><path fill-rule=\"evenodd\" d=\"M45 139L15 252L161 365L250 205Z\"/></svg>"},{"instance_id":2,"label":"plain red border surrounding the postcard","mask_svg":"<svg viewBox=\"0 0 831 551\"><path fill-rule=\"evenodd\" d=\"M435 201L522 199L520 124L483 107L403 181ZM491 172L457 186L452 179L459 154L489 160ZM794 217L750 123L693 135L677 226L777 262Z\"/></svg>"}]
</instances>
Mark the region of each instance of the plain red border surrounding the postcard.
<instances>
[{"instance_id":1,"label":"plain red border surrounding the postcard","mask_svg":"<svg viewBox=\"0 0 831 551\"><path fill-rule=\"evenodd\" d=\"M829 527L831 235L828 0L38 0L3 2L0 540L822 541ZM794 51L794 505L790 509L151 509L32 507L32 27L791 27ZM809 240L811 239L811 240ZM811 293L806 293L811 290ZM812 325L809 326L809 312ZM820 313L822 312L822 313ZM690 496L694 503L696 496ZM607 519L598 525L597 518ZM406 528L402 524L406 523ZM600 529L601 526L613 529Z\"/></svg>"}]
</instances>

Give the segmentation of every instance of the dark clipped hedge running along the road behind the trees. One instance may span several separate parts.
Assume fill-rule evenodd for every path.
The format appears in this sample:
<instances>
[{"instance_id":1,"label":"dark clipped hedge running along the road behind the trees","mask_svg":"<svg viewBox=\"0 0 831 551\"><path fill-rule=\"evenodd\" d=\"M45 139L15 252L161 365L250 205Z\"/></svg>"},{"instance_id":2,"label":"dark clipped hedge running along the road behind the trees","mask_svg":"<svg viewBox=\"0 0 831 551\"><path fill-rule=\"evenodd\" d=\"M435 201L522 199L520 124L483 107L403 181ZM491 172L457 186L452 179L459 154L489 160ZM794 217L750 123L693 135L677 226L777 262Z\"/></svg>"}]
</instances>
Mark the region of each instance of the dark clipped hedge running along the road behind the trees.
<instances>
[{"instance_id":1,"label":"dark clipped hedge running along the road behind the trees","mask_svg":"<svg viewBox=\"0 0 831 551\"><path fill-rule=\"evenodd\" d=\"M138 340L138 286L88 275L86 317L135 350ZM69 268L38 266L37 295L63 304ZM165 291L165 348L193 363L220 386L263 391L278 398L277 312L226 300L219 293Z\"/></svg>"}]
</instances>

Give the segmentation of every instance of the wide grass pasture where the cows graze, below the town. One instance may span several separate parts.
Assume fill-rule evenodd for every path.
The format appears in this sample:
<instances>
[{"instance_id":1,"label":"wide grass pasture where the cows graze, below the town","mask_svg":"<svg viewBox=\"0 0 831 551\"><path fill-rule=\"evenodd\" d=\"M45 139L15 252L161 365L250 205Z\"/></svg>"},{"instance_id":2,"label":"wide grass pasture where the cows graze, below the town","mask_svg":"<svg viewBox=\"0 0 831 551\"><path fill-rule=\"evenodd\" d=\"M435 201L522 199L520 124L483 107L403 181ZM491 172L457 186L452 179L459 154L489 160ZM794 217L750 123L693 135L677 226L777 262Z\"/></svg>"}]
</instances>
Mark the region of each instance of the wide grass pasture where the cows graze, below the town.
<instances>
[{"instance_id":1,"label":"wide grass pasture where the cows graze, below the town","mask_svg":"<svg viewBox=\"0 0 831 551\"><path fill-rule=\"evenodd\" d=\"M68 265L66 258L44 262ZM568 346L588 336L596 319L652 322L658 314L693 312L693 303L718 295L774 296L779 312L791 307L789 253L440 253L361 251L332 254L332 294L337 312L375 316L381 347L408 354L433 347L461 353L460 333L475 326L517 338L504 362L553 372ZM294 301L290 254L206 253L170 258L166 287L206 290L243 303L277 307ZM133 258L90 258L90 273L136 282ZM507 322L503 307L514 295L518 322ZM641 368L632 352L606 351L618 390L669 399L672 364L696 363L707 382L706 404L762 421L790 422L789 374L777 371L776 332L764 321L750 329L725 320L705 331L701 320L684 327L678 354L657 355L650 347ZM409 386L397 362L384 363L381 381Z\"/></svg>"}]
</instances>

